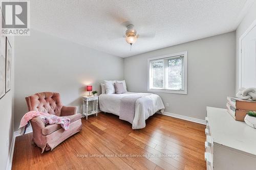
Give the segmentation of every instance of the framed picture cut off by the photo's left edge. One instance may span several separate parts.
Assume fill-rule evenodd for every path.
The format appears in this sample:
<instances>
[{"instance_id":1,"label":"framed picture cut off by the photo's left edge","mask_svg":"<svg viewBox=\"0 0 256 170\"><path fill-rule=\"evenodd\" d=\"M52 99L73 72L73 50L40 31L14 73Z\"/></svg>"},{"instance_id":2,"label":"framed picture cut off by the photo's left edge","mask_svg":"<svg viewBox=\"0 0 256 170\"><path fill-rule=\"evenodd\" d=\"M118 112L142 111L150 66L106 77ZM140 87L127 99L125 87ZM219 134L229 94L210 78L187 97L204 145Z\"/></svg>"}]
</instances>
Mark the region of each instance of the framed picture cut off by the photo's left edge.
<instances>
[{"instance_id":1,"label":"framed picture cut off by the photo's left edge","mask_svg":"<svg viewBox=\"0 0 256 170\"><path fill-rule=\"evenodd\" d=\"M0 11L2 14L2 11ZM3 15L1 15L1 20L5 22ZM0 29L2 28L2 22L0 24ZM6 37L0 35L0 99L5 95L6 86Z\"/></svg>"}]
</instances>

